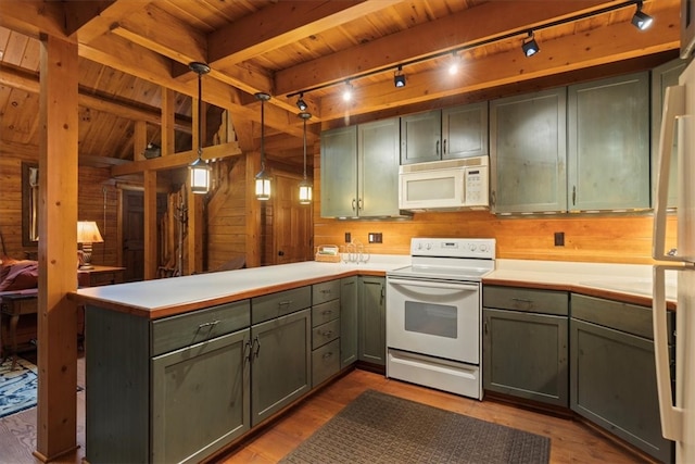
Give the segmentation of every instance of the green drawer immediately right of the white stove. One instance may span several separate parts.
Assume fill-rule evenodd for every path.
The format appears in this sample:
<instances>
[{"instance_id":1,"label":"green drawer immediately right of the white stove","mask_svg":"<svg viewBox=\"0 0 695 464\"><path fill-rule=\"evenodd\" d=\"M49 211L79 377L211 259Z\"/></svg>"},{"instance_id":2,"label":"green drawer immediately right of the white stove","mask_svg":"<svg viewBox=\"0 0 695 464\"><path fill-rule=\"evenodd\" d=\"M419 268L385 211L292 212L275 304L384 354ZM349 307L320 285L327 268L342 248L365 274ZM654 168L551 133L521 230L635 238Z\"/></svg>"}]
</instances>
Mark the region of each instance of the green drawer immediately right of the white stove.
<instances>
[{"instance_id":1,"label":"green drawer immediately right of the white stove","mask_svg":"<svg viewBox=\"0 0 695 464\"><path fill-rule=\"evenodd\" d=\"M569 297L565 291L518 287L482 287L482 305L501 310L523 311L564 316L569 314Z\"/></svg>"}]
</instances>

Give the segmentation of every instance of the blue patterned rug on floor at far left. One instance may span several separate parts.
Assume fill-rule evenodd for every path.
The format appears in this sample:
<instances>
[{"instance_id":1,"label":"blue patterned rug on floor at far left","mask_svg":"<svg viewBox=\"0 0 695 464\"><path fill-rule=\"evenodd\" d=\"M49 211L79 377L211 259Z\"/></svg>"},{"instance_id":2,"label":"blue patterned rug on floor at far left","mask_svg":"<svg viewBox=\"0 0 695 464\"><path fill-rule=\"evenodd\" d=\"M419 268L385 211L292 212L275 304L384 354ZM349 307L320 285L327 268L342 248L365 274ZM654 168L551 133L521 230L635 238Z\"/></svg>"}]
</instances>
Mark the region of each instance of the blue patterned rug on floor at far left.
<instances>
[{"instance_id":1,"label":"blue patterned rug on floor at far left","mask_svg":"<svg viewBox=\"0 0 695 464\"><path fill-rule=\"evenodd\" d=\"M12 359L0 365L0 417L18 413L36 405L38 384L37 367L18 358L12 367Z\"/></svg>"}]
</instances>

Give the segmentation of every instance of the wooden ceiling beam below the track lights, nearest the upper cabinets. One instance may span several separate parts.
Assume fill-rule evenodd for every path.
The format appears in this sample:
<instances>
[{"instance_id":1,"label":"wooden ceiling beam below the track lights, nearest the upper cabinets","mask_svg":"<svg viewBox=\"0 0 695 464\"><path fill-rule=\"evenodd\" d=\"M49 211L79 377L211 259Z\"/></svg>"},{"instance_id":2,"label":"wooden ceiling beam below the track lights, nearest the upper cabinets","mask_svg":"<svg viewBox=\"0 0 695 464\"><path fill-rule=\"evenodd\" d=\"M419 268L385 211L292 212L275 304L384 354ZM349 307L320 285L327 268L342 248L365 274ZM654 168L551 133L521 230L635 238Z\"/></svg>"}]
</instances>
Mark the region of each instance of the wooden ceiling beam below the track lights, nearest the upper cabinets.
<instances>
[{"instance_id":1,"label":"wooden ceiling beam below the track lights, nearest the upper cabinets","mask_svg":"<svg viewBox=\"0 0 695 464\"><path fill-rule=\"evenodd\" d=\"M370 113L678 49L678 11L653 9L649 14L659 16L648 32L636 30L630 22L619 23L544 40L541 53L533 58L513 50L470 61L454 78L445 75L445 70L432 70L408 75L407 86L401 89L390 81L355 86L350 108L337 91L321 100L321 113L328 120L343 117L345 112Z\"/></svg>"}]
</instances>

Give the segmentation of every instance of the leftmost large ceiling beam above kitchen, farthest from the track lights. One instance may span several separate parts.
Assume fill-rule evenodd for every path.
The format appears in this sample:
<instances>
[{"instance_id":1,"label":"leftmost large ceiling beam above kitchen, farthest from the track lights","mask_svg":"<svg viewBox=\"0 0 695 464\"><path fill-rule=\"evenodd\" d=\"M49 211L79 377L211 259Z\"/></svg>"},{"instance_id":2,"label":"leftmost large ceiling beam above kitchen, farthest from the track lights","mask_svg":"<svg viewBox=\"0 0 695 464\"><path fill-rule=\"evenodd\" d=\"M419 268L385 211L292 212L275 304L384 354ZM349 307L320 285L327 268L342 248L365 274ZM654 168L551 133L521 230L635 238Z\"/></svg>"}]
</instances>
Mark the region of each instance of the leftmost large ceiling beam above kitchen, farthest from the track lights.
<instances>
[{"instance_id":1,"label":"leftmost large ceiling beam above kitchen, farthest from the track lights","mask_svg":"<svg viewBox=\"0 0 695 464\"><path fill-rule=\"evenodd\" d=\"M240 63L403 0L281 1L210 35L213 65Z\"/></svg>"}]
</instances>

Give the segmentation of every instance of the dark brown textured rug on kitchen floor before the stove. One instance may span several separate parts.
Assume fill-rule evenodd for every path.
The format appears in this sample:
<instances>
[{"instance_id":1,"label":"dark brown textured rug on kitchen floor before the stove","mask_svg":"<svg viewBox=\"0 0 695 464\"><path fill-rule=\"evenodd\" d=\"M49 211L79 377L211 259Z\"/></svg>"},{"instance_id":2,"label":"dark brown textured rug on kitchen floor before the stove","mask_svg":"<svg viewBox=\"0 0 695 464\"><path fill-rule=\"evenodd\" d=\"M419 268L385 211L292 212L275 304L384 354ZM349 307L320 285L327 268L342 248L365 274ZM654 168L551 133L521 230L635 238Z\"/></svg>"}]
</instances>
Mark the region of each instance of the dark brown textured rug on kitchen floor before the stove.
<instances>
[{"instance_id":1,"label":"dark brown textured rug on kitchen floor before the stove","mask_svg":"<svg viewBox=\"0 0 695 464\"><path fill-rule=\"evenodd\" d=\"M374 390L281 463L547 463L551 439Z\"/></svg>"}]
</instances>

